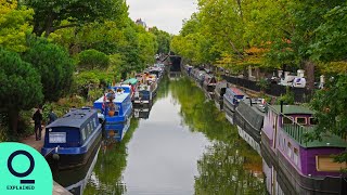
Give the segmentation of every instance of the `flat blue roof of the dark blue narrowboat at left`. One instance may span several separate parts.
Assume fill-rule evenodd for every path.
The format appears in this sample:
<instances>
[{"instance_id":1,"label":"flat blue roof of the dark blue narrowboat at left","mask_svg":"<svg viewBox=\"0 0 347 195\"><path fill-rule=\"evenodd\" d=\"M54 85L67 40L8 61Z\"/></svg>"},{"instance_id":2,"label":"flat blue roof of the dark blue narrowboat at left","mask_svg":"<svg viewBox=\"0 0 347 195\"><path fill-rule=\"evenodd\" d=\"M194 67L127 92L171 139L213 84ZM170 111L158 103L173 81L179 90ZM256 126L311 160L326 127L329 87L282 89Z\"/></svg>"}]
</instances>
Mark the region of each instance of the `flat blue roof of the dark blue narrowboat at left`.
<instances>
[{"instance_id":1,"label":"flat blue roof of the dark blue narrowboat at left","mask_svg":"<svg viewBox=\"0 0 347 195\"><path fill-rule=\"evenodd\" d=\"M65 114L62 118L56 119L52 123L48 125L46 128L55 128L55 127L72 127L72 128L81 128L88 118L93 115L98 115L98 112L92 108L80 108L72 110Z\"/></svg>"}]
</instances>

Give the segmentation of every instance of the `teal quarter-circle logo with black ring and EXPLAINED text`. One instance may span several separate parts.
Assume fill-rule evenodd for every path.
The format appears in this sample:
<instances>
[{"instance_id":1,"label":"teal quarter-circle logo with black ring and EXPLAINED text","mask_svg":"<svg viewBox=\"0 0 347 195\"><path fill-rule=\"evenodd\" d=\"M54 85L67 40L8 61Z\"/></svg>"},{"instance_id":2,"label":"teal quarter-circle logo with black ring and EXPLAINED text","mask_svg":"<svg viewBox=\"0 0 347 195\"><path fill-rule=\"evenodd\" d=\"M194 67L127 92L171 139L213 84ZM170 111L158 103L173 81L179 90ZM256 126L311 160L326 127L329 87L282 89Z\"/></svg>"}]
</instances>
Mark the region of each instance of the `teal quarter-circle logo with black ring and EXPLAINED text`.
<instances>
[{"instance_id":1,"label":"teal quarter-circle logo with black ring and EXPLAINED text","mask_svg":"<svg viewBox=\"0 0 347 195\"><path fill-rule=\"evenodd\" d=\"M14 142L0 143L0 194L52 194L51 169L35 148Z\"/></svg>"}]
</instances>

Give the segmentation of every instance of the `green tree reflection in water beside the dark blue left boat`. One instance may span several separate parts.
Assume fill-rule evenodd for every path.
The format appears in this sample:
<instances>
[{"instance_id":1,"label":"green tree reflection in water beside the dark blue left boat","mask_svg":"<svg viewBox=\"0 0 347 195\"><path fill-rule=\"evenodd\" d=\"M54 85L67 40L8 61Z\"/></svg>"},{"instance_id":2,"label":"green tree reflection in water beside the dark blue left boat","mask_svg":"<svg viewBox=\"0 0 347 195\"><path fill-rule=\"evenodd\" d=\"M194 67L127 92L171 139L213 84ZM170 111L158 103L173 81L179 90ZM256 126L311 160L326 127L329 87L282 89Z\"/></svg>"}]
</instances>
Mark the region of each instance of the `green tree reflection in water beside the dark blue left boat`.
<instances>
[{"instance_id":1,"label":"green tree reflection in water beside the dark blue left boat","mask_svg":"<svg viewBox=\"0 0 347 195\"><path fill-rule=\"evenodd\" d=\"M130 128L120 143L104 144L83 194L125 194L126 184L121 183L121 173L127 166L127 143L139 127L139 120L132 118Z\"/></svg>"}]
</instances>

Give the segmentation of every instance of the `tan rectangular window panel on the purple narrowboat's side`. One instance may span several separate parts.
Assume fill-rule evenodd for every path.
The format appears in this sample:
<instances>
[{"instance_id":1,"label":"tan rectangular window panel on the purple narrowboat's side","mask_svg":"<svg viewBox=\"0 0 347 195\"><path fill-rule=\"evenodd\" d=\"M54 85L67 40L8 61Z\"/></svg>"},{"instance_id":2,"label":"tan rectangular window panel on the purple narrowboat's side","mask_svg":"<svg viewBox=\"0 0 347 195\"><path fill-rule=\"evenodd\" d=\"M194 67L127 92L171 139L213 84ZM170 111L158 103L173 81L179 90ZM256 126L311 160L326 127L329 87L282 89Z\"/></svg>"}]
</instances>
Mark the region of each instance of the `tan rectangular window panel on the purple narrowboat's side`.
<instances>
[{"instance_id":1,"label":"tan rectangular window panel on the purple narrowboat's side","mask_svg":"<svg viewBox=\"0 0 347 195\"><path fill-rule=\"evenodd\" d=\"M347 164L334 161L332 156L316 156L317 171L340 171L347 168Z\"/></svg>"}]
</instances>

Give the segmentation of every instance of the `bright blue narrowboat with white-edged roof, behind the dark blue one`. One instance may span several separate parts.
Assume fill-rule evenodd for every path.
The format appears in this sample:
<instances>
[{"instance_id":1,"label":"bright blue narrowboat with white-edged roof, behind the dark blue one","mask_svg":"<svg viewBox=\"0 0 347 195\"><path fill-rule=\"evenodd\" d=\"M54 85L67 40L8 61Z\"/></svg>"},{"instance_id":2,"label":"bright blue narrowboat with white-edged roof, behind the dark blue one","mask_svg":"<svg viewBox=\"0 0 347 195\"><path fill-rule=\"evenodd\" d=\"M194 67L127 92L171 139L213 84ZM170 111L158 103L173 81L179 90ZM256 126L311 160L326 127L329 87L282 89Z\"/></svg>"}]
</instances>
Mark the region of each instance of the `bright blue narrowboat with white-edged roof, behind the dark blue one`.
<instances>
[{"instance_id":1,"label":"bright blue narrowboat with white-edged roof, behind the dark blue one","mask_svg":"<svg viewBox=\"0 0 347 195\"><path fill-rule=\"evenodd\" d=\"M104 129L107 139L120 142L129 129L132 104L129 86L112 87L110 91L94 102L94 108L104 115Z\"/></svg>"}]
</instances>

